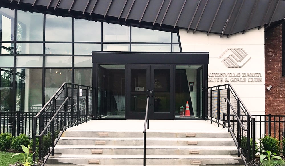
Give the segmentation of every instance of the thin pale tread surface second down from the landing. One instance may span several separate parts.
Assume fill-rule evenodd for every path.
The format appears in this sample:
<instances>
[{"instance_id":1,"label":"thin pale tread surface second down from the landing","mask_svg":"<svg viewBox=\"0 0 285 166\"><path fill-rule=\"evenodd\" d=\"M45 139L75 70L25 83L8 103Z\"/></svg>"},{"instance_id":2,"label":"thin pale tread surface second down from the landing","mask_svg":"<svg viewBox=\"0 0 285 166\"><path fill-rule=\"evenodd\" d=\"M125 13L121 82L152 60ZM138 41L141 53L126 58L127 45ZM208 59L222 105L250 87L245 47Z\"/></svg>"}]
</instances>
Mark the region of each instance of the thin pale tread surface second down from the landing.
<instances>
[{"instance_id":1,"label":"thin pale tread surface second down from the landing","mask_svg":"<svg viewBox=\"0 0 285 166\"><path fill-rule=\"evenodd\" d=\"M55 149L74 148L74 149L143 149L143 145L56 145ZM236 146L191 146L191 145L146 145L148 149L237 149Z\"/></svg>"}]
</instances>

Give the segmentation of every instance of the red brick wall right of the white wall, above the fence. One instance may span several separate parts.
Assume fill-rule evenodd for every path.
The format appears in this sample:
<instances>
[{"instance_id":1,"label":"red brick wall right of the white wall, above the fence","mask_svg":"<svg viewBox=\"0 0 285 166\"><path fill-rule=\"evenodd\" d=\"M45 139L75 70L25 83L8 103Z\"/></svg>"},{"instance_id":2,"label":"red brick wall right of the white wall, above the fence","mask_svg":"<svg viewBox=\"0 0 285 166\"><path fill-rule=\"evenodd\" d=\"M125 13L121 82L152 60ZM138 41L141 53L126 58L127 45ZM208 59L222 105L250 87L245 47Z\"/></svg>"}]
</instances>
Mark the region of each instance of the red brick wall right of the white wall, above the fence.
<instances>
[{"instance_id":1,"label":"red brick wall right of the white wall, above the fence","mask_svg":"<svg viewBox=\"0 0 285 166\"><path fill-rule=\"evenodd\" d=\"M285 64L284 64L285 65ZM272 85L272 90L266 87ZM282 25L265 32L265 114L285 114L285 77L282 77Z\"/></svg>"}]
</instances>

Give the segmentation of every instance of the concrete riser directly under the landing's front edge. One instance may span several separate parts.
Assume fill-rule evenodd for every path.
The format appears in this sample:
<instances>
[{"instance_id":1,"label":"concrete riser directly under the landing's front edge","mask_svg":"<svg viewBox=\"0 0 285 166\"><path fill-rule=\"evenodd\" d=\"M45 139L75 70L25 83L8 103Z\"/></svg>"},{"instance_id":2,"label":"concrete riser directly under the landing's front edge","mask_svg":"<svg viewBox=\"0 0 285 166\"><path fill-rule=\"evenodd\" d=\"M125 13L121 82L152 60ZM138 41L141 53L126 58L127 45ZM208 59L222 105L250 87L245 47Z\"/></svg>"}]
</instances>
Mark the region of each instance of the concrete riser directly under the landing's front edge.
<instances>
[{"instance_id":1,"label":"concrete riser directly under the landing's front edge","mask_svg":"<svg viewBox=\"0 0 285 166\"><path fill-rule=\"evenodd\" d=\"M211 137L231 138L228 132L146 132L147 137ZM143 132L73 132L65 131L62 137L143 137Z\"/></svg>"}]
</instances>

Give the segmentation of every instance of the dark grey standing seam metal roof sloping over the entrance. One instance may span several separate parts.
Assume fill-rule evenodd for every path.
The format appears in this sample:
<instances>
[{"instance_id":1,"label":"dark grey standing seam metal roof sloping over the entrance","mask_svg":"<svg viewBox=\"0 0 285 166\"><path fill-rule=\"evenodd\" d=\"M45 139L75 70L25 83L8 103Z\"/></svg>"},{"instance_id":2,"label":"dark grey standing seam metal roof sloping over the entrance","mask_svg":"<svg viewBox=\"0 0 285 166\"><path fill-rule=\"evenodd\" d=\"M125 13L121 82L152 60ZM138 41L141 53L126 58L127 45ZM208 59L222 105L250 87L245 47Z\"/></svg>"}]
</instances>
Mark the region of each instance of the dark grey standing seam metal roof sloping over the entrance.
<instances>
[{"instance_id":1,"label":"dark grey standing seam metal roof sloping over the entrance","mask_svg":"<svg viewBox=\"0 0 285 166\"><path fill-rule=\"evenodd\" d=\"M285 20L285 0L0 0L0 7L221 37Z\"/></svg>"}]
</instances>

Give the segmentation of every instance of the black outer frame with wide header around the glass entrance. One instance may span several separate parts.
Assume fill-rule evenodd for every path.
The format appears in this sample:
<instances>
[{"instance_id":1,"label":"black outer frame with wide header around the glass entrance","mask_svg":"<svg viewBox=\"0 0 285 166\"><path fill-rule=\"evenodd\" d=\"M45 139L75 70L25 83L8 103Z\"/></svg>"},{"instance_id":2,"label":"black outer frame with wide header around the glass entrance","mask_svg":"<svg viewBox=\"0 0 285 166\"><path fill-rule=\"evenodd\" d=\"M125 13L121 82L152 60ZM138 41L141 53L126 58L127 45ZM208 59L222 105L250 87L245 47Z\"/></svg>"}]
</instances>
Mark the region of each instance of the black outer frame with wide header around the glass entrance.
<instances>
[{"instance_id":1,"label":"black outer frame with wide header around the glass entrance","mask_svg":"<svg viewBox=\"0 0 285 166\"><path fill-rule=\"evenodd\" d=\"M92 63L93 63L93 86L97 87L97 76L98 76L98 64L113 64L113 65L202 65L203 66L203 105L202 105L202 120L207 116L208 107L207 91L208 87L208 63L209 63L209 52L112 52L112 51L92 51ZM127 72L125 75L126 87L127 87ZM175 78L175 72L174 72ZM175 83L174 83L175 84ZM174 85L175 86L175 85ZM98 89L93 90L93 113L95 119L98 119L97 115L97 93ZM175 91L174 91L175 93ZM127 94L127 88L126 93ZM175 101L175 96L173 98ZM128 104L128 103L126 103ZM125 110L127 109L127 105ZM175 119L175 111L173 111L173 119ZM125 111L125 118L127 111ZM109 118L111 119L111 118ZM115 118L114 118L115 119Z\"/></svg>"}]
</instances>

